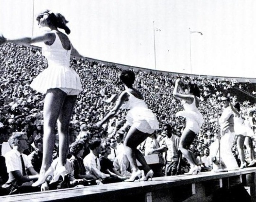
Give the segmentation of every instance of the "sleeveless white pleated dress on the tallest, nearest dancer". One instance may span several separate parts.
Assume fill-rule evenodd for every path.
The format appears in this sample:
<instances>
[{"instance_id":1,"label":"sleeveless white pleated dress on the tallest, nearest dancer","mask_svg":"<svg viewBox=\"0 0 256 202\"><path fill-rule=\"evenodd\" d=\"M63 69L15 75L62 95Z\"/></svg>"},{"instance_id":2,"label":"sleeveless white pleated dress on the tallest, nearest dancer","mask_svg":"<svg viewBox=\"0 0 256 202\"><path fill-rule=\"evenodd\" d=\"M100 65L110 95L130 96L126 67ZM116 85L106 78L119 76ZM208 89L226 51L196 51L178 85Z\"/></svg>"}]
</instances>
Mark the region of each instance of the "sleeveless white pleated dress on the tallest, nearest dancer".
<instances>
[{"instance_id":1,"label":"sleeveless white pleated dress on the tallest, nearest dancer","mask_svg":"<svg viewBox=\"0 0 256 202\"><path fill-rule=\"evenodd\" d=\"M82 91L78 74L70 68L70 50L65 50L58 34L52 45L42 47L42 54L48 61L48 67L43 70L30 84L30 87L40 93L46 93L50 88L68 88Z\"/></svg>"}]
</instances>

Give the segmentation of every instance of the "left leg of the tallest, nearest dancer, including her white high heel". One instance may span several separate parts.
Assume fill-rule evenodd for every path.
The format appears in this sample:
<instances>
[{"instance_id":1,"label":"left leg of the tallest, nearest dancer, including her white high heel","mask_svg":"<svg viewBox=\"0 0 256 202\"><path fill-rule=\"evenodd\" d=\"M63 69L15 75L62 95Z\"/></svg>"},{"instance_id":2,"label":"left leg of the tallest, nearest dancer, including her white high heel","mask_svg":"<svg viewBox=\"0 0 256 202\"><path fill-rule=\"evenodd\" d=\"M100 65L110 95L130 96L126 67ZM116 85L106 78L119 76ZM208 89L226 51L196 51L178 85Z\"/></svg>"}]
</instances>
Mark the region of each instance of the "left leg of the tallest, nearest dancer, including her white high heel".
<instances>
[{"instance_id":1,"label":"left leg of the tallest, nearest dancer, including her white high heel","mask_svg":"<svg viewBox=\"0 0 256 202\"><path fill-rule=\"evenodd\" d=\"M58 88L48 89L44 104L44 139L43 139L43 161L40 169L40 176L33 186L45 182L46 171L51 166L53 149L55 145L55 126L60 114L66 93Z\"/></svg>"}]
</instances>

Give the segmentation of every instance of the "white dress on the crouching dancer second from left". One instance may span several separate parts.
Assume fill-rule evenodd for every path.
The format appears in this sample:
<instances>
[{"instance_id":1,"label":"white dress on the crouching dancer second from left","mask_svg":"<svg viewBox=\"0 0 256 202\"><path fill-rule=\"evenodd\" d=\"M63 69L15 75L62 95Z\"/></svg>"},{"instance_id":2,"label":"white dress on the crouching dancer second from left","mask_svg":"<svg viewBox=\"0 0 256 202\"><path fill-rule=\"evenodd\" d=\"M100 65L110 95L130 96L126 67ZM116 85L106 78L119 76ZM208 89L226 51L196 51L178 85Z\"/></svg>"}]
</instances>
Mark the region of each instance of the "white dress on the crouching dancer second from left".
<instances>
[{"instance_id":1,"label":"white dress on the crouching dancer second from left","mask_svg":"<svg viewBox=\"0 0 256 202\"><path fill-rule=\"evenodd\" d=\"M122 105L122 108L130 109L126 115L129 125L134 125L139 131L152 134L159 129L159 124L155 114L147 108L144 100L132 95L129 100Z\"/></svg>"}]
</instances>

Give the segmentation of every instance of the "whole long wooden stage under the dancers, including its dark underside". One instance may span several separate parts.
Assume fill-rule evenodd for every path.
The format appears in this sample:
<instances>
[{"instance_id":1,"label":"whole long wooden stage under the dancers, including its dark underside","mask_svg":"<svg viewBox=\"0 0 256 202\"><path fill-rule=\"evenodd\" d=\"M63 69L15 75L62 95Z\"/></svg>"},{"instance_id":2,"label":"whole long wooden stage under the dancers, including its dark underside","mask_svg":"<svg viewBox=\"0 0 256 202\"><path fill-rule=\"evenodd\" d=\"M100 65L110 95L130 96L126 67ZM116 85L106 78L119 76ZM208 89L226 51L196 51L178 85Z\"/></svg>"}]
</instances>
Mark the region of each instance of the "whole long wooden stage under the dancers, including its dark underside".
<instances>
[{"instance_id":1,"label":"whole long wooden stage under the dancers, including its dark underside","mask_svg":"<svg viewBox=\"0 0 256 202\"><path fill-rule=\"evenodd\" d=\"M241 198L256 202L256 168L2 196L0 202L233 202Z\"/></svg>"}]
</instances>

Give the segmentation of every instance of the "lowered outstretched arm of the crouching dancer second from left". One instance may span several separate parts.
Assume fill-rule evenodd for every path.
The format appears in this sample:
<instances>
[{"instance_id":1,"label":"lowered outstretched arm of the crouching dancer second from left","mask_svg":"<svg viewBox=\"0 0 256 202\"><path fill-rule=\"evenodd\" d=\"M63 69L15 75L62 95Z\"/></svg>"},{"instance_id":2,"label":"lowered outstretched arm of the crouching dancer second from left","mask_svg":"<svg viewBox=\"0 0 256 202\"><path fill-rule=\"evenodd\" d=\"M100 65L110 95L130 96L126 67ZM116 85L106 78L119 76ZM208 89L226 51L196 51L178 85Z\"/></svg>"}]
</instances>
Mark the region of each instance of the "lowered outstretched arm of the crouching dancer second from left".
<instances>
[{"instance_id":1,"label":"lowered outstretched arm of the crouching dancer second from left","mask_svg":"<svg viewBox=\"0 0 256 202\"><path fill-rule=\"evenodd\" d=\"M110 118L112 118L115 114L117 114L119 108L121 105L125 102L128 101L128 93L127 92L122 92L121 95L119 96L119 99L116 102L116 105L114 106L113 109L110 110L110 112L98 123L96 123L96 126L101 127L104 123L106 123Z\"/></svg>"}]
</instances>

